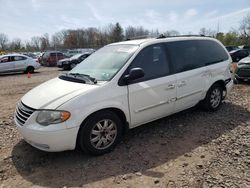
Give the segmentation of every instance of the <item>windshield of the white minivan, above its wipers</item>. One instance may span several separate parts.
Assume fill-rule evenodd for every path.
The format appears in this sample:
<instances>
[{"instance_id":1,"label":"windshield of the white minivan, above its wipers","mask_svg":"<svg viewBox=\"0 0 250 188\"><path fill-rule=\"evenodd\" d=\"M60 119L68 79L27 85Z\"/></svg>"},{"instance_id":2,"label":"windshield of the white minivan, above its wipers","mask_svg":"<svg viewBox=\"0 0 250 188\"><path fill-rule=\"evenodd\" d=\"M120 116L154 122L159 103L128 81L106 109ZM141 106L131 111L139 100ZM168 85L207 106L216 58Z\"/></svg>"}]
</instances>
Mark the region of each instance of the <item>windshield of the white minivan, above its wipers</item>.
<instances>
[{"instance_id":1,"label":"windshield of the white minivan, above its wipers","mask_svg":"<svg viewBox=\"0 0 250 188\"><path fill-rule=\"evenodd\" d=\"M110 45L93 53L70 73L89 75L97 81L109 81L138 49L137 45Z\"/></svg>"}]
</instances>

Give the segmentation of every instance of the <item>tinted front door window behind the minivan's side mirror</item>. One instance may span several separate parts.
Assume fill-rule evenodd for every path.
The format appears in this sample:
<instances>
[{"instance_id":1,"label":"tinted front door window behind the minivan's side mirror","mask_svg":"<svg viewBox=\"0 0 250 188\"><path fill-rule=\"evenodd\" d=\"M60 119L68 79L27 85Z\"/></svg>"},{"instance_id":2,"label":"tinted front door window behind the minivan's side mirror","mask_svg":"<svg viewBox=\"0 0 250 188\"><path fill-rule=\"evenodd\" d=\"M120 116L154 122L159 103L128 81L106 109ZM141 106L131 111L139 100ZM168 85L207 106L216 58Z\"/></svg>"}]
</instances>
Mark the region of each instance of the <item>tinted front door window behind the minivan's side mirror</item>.
<instances>
[{"instance_id":1,"label":"tinted front door window behind the minivan's side mirror","mask_svg":"<svg viewBox=\"0 0 250 188\"><path fill-rule=\"evenodd\" d=\"M170 74L165 47L162 44L144 48L134 59L128 70L142 68L145 76L138 81L145 81Z\"/></svg>"}]
</instances>

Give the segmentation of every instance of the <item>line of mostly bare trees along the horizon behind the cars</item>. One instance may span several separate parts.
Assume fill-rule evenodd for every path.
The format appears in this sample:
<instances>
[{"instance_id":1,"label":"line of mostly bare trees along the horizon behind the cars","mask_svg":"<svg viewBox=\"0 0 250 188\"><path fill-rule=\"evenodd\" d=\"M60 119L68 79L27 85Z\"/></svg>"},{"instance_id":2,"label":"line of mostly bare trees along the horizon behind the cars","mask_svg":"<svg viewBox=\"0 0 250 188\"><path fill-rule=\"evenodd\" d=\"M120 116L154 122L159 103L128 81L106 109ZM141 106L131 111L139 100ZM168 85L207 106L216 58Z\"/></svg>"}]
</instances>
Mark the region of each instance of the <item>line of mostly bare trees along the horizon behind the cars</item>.
<instances>
[{"instance_id":1,"label":"line of mostly bare trees along the horizon behind the cars","mask_svg":"<svg viewBox=\"0 0 250 188\"><path fill-rule=\"evenodd\" d=\"M128 26L123 28L120 23L109 24L104 28L67 29L54 33L51 37L45 33L42 36L31 37L28 41L20 38L9 40L8 35L0 33L1 51L46 51L74 48L100 48L106 44L127 39L157 37L158 29L148 30L143 26ZM178 36L179 31L167 30L165 36ZM193 34L192 32L188 34ZM225 46L250 45L250 14L242 19L240 27L227 33L201 28L200 35L211 36L220 40Z\"/></svg>"}]
</instances>

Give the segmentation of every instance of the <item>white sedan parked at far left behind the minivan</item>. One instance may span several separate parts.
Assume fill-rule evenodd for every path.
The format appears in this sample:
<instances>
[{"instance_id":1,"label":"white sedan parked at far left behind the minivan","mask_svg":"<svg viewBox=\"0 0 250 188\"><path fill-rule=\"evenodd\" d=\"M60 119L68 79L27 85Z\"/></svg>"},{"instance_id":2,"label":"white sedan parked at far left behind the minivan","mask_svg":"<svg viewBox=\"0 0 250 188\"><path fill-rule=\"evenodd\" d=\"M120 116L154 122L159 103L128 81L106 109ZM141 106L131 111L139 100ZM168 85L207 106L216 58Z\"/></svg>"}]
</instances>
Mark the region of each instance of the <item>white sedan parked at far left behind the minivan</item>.
<instances>
[{"instance_id":1,"label":"white sedan parked at far left behind the minivan","mask_svg":"<svg viewBox=\"0 0 250 188\"><path fill-rule=\"evenodd\" d=\"M8 54L0 56L0 73L19 72L33 73L39 69L40 64L31 57L21 54Z\"/></svg>"}]
</instances>

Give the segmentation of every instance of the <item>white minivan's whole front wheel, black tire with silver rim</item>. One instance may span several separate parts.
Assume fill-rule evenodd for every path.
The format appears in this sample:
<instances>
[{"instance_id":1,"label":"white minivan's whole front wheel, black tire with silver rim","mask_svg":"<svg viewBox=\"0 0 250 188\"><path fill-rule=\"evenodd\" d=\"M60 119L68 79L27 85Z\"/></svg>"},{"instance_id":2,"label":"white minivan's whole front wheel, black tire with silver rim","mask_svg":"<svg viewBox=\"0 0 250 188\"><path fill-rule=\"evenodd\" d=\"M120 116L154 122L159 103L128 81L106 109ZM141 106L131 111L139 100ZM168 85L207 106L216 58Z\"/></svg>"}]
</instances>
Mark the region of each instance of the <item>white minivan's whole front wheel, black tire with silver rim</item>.
<instances>
[{"instance_id":1,"label":"white minivan's whole front wheel, black tire with silver rim","mask_svg":"<svg viewBox=\"0 0 250 188\"><path fill-rule=\"evenodd\" d=\"M112 111L90 116L78 133L78 146L86 153L102 155L112 151L122 136L122 121Z\"/></svg>"}]
</instances>

